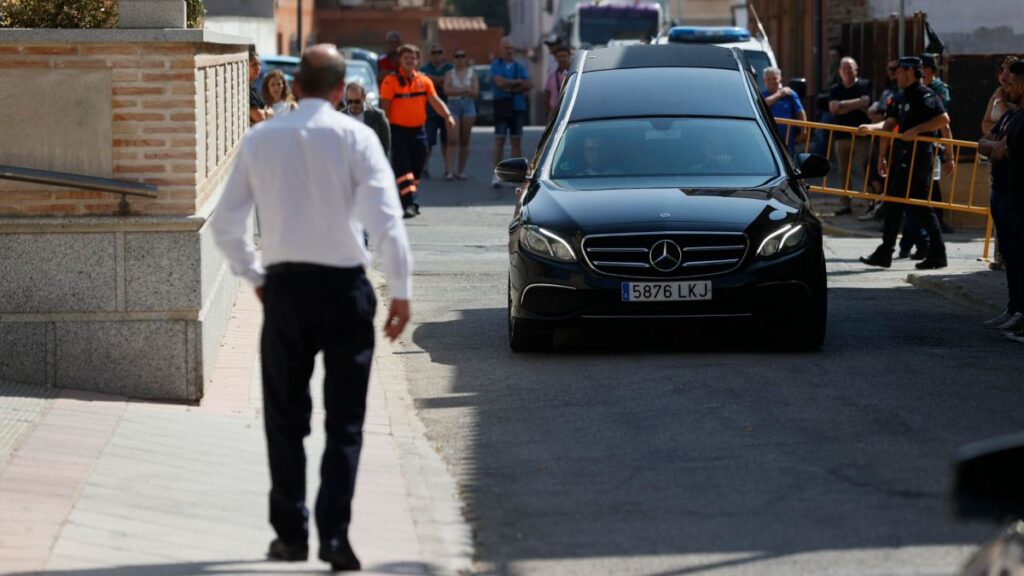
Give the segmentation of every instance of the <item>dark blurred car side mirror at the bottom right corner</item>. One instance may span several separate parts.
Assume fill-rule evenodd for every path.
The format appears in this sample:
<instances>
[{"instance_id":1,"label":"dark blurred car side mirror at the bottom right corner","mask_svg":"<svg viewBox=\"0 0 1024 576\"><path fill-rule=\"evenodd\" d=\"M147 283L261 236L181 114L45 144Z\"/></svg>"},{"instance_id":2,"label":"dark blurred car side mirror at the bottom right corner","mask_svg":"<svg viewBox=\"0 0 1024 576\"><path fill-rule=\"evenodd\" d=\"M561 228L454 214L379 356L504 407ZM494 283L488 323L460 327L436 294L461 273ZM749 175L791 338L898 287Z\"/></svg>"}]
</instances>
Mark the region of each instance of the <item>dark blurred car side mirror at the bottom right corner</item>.
<instances>
[{"instance_id":1,"label":"dark blurred car side mirror at the bottom right corner","mask_svg":"<svg viewBox=\"0 0 1024 576\"><path fill-rule=\"evenodd\" d=\"M962 448L953 460L950 504L956 518L1002 522L1024 517L1024 434Z\"/></svg>"}]
</instances>

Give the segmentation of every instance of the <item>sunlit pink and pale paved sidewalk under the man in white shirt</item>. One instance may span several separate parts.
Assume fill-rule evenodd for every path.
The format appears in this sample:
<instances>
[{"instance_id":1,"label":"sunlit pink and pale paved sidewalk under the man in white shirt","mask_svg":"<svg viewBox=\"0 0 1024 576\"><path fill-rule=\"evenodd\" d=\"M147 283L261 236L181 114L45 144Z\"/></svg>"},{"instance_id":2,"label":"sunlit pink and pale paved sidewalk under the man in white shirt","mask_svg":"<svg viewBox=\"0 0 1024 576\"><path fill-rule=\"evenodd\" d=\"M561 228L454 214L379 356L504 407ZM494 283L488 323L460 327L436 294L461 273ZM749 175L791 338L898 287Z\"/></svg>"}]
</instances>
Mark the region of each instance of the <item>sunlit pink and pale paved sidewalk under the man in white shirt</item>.
<instances>
[{"instance_id":1,"label":"sunlit pink and pale paved sidewalk under the man in white shirt","mask_svg":"<svg viewBox=\"0 0 1024 576\"><path fill-rule=\"evenodd\" d=\"M243 289L200 406L70 390L22 401L29 406L18 417L39 419L28 433L24 422L0 426L22 439L6 465L0 460L0 573L326 572L315 559L263 561L272 532L256 354L261 322L259 302ZM317 363L314 383L321 370ZM455 483L424 440L404 385L400 362L379 342L352 545L370 574L467 572L472 543ZM306 442L310 502L324 446L317 387ZM316 541L311 534L313 554Z\"/></svg>"}]
</instances>

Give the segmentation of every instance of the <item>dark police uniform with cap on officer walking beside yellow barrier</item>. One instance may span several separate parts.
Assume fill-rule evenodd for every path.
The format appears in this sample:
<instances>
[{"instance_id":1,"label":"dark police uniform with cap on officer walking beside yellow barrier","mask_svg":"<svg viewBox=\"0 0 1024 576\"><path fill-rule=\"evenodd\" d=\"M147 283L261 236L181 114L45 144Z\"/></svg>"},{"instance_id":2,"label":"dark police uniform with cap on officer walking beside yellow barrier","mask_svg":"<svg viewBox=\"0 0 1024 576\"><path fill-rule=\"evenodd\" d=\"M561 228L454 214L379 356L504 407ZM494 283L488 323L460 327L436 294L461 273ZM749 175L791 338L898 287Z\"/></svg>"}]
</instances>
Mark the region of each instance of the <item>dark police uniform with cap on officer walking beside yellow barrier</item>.
<instances>
[{"instance_id":1,"label":"dark police uniform with cap on officer walking beside yellow barrier","mask_svg":"<svg viewBox=\"0 0 1024 576\"><path fill-rule=\"evenodd\" d=\"M899 66L901 68L920 69L921 59L913 57L901 58ZM919 81L910 84L896 95L893 106L889 107L886 111L886 117L895 119L900 131L906 131L928 122L936 116L941 116L945 112L946 109L942 105L942 99ZM939 134L937 131L933 131L919 135L938 137ZM935 161L934 151L935 147L930 142L908 142L898 138L894 139L892 156L890 157L889 183L886 195L906 197L907 187L909 186L909 198L927 200L932 182L933 163ZM892 252L896 246L896 237L899 235L904 210L913 212L913 215L928 233L930 241L928 256L923 262L918 264L918 268L944 266L946 263L946 248L942 240L942 230L939 228L939 220L935 209L929 206L906 205L897 202L890 202L886 206L882 246L873 254L867 258L861 258L861 260L865 263L880 265L881 262L892 259ZM888 265L888 263L882 265Z\"/></svg>"}]
</instances>

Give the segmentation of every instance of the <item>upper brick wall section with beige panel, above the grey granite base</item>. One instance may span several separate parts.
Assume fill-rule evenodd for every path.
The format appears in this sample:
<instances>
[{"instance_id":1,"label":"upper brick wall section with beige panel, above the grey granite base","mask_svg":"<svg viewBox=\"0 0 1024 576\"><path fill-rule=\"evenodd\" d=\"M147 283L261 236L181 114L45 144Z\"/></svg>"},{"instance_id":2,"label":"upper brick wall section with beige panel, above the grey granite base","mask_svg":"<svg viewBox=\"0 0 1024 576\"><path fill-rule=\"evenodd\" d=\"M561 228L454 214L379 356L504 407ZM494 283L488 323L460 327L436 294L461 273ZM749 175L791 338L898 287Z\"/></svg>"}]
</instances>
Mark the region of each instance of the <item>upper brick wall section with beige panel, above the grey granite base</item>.
<instances>
[{"instance_id":1,"label":"upper brick wall section with beige panel, above the grey granite base","mask_svg":"<svg viewBox=\"0 0 1024 576\"><path fill-rule=\"evenodd\" d=\"M142 34L71 34L87 32ZM0 70L8 79L0 83L0 106L8 111L3 163L158 184L159 198L129 199L132 214L195 213L248 127L246 53L209 42L58 42L42 33L0 35ZM0 215L113 214L120 200L40 184L0 187Z\"/></svg>"}]
</instances>

